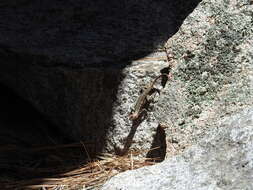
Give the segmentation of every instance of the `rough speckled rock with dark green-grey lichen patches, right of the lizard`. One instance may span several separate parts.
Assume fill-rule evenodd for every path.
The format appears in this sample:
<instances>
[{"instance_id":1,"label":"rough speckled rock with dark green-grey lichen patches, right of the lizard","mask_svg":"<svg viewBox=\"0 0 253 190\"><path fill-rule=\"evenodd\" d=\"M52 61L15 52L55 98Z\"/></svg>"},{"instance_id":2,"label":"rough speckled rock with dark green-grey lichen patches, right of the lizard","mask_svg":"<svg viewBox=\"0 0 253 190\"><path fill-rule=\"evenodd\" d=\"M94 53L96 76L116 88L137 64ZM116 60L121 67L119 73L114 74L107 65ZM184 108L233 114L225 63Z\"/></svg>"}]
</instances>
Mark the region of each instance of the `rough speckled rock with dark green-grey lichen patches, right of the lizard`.
<instances>
[{"instance_id":1,"label":"rough speckled rock with dark green-grey lichen patches, right of the lizard","mask_svg":"<svg viewBox=\"0 0 253 190\"><path fill-rule=\"evenodd\" d=\"M174 79L154 112L167 126L167 156L252 105L252 8L247 0L202 1L168 40Z\"/></svg>"}]
</instances>

